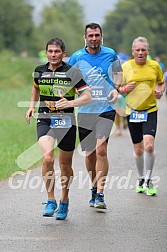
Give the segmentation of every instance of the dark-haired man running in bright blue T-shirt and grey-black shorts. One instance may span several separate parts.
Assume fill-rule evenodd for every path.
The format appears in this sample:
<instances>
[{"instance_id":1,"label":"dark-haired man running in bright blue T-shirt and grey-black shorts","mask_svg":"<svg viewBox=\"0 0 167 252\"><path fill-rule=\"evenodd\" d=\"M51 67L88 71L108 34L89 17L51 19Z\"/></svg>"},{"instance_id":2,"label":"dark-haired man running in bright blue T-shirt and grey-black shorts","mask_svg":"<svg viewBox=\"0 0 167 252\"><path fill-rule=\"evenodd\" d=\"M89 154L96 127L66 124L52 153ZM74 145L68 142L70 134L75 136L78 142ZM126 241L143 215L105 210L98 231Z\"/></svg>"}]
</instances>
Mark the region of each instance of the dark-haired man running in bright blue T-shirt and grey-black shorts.
<instances>
[{"instance_id":1,"label":"dark-haired man running in bright blue T-shirt and grey-black shorts","mask_svg":"<svg viewBox=\"0 0 167 252\"><path fill-rule=\"evenodd\" d=\"M102 28L97 23L85 27L85 47L75 52L69 64L79 68L91 87L93 101L79 107L78 126L81 148L86 151L86 168L92 181L91 207L106 209L104 186L108 174L107 142L115 118L118 92L112 81L116 52L102 46ZM122 71L118 64L117 72Z\"/></svg>"}]
</instances>

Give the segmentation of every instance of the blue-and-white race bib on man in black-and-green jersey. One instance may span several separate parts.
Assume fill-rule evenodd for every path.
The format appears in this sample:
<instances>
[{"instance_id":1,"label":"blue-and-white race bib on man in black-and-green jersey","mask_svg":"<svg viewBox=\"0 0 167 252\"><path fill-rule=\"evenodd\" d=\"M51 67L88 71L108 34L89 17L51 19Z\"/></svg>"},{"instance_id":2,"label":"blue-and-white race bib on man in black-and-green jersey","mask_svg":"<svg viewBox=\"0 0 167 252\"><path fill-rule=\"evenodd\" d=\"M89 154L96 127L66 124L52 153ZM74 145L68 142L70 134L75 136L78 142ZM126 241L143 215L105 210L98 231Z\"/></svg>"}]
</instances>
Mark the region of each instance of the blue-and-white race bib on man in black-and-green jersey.
<instances>
[{"instance_id":1,"label":"blue-and-white race bib on man in black-and-green jersey","mask_svg":"<svg viewBox=\"0 0 167 252\"><path fill-rule=\"evenodd\" d=\"M51 128L70 128L72 126L70 116L65 115L51 116L50 120L51 120L50 123Z\"/></svg>"}]
</instances>

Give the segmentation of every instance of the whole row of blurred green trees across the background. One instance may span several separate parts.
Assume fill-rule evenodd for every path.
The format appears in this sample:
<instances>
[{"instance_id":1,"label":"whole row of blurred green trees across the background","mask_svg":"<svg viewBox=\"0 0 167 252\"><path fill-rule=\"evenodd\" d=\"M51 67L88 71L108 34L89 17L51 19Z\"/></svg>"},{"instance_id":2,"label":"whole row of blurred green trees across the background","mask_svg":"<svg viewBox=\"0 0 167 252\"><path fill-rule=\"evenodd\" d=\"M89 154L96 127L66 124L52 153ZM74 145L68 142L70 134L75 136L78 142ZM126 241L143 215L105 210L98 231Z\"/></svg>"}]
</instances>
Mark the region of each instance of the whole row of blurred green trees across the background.
<instances>
[{"instance_id":1,"label":"whole row of blurred green trees across the background","mask_svg":"<svg viewBox=\"0 0 167 252\"><path fill-rule=\"evenodd\" d=\"M0 50L16 54L27 51L37 55L51 37L61 37L67 55L84 46L84 6L77 0L52 0L34 23L33 6L28 0L0 0ZM40 4L40 2L39 2ZM167 0L118 0L101 24L104 45L131 55L134 38L145 36L152 57L159 56L167 65Z\"/></svg>"}]
</instances>

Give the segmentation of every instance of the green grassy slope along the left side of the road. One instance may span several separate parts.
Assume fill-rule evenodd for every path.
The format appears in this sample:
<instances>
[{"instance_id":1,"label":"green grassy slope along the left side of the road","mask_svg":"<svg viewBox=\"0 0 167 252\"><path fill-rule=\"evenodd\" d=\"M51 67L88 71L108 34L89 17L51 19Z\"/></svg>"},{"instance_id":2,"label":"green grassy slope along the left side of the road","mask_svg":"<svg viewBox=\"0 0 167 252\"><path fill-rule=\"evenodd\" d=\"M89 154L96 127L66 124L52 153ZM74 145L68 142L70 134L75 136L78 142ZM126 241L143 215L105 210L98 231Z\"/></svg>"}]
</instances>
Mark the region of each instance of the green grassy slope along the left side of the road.
<instances>
[{"instance_id":1,"label":"green grassy slope along the left side of the road","mask_svg":"<svg viewBox=\"0 0 167 252\"><path fill-rule=\"evenodd\" d=\"M2 53L0 68L0 180L21 170L18 156L36 142L35 119L27 125L27 108L18 102L28 101L33 85L32 72L37 63L29 58ZM35 165L35 164L34 164ZM24 167L26 169L26 166Z\"/></svg>"}]
</instances>

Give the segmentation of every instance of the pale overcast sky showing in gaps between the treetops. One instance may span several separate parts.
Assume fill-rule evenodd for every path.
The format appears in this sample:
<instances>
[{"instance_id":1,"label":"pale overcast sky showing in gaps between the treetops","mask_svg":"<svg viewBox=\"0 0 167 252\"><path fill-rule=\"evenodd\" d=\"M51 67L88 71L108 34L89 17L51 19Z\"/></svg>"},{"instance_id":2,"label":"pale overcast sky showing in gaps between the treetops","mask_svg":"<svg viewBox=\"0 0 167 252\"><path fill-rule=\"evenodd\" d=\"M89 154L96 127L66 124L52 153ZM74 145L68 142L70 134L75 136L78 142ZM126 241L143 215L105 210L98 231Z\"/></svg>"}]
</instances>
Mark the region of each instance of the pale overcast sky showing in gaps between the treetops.
<instances>
[{"instance_id":1,"label":"pale overcast sky showing in gaps between the treetops","mask_svg":"<svg viewBox=\"0 0 167 252\"><path fill-rule=\"evenodd\" d=\"M35 21L39 22L39 13L41 9L51 2L51 0L28 0L35 6L34 17ZM104 22L104 16L110 10L112 10L118 0L78 0L84 7L85 23L97 22L102 24Z\"/></svg>"}]
</instances>

